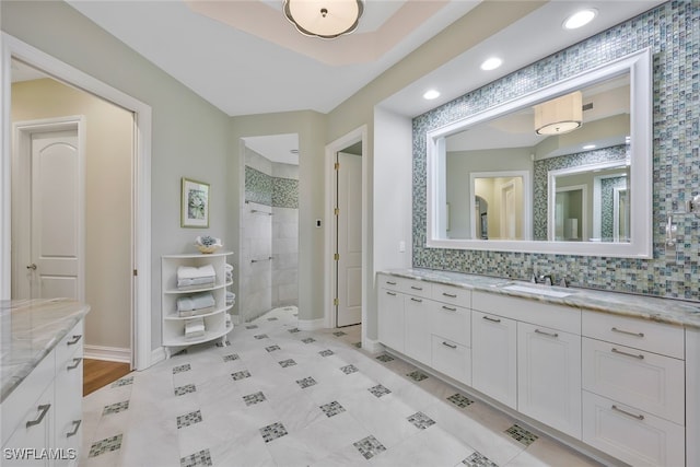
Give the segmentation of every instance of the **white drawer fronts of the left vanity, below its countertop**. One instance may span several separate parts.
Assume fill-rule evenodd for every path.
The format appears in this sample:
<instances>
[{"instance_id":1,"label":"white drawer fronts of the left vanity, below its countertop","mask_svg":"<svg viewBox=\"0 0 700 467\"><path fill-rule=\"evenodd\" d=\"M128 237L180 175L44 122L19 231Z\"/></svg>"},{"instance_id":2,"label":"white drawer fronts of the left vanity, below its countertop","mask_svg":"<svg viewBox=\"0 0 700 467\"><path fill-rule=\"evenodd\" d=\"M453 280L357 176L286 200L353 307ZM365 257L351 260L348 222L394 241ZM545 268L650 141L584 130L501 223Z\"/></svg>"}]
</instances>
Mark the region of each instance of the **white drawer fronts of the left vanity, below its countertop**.
<instances>
[{"instance_id":1,"label":"white drawer fronts of the left vanity, below its countertop","mask_svg":"<svg viewBox=\"0 0 700 467\"><path fill-rule=\"evenodd\" d=\"M82 357L81 319L2 402L3 466L78 465ZM35 451L27 453L27 448ZM12 451L18 454L8 458ZM18 458L20 451L30 457Z\"/></svg>"}]
</instances>

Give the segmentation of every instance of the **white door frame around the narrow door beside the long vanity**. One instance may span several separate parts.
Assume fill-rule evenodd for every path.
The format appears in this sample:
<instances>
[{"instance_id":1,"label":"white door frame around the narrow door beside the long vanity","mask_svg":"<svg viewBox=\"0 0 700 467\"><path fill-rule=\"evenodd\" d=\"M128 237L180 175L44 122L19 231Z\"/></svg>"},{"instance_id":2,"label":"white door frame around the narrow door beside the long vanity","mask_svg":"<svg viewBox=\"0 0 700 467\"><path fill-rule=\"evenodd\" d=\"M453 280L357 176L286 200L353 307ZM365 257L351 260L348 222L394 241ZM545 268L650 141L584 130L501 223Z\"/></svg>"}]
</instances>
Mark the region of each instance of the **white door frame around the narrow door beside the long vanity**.
<instances>
[{"instance_id":1,"label":"white door frame around the narrow door beside the long vanity","mask_svg":"<svg viewBox=\"0 0 700 467\"><path fill-rule=\"evenodd\" d=\"M369 157L368 154L368 126L363 125L349 133L338 138L326 145L325 156L325 174L326 174L326 219L328 227L325 231L325 254L324 254L324 325L326 328L335 328L337 326L336 308L334 305L335 290L337 287L336 261L334 254L336 252L336 229L337 220L334 214L336 207L337 179L336 179L336 153L342 151L349 145L362 143L362 346L366 341L366 313L368 313L368 267L370 265L368 245L370 222L369 210Z\"/></svg>"}]
</instances>

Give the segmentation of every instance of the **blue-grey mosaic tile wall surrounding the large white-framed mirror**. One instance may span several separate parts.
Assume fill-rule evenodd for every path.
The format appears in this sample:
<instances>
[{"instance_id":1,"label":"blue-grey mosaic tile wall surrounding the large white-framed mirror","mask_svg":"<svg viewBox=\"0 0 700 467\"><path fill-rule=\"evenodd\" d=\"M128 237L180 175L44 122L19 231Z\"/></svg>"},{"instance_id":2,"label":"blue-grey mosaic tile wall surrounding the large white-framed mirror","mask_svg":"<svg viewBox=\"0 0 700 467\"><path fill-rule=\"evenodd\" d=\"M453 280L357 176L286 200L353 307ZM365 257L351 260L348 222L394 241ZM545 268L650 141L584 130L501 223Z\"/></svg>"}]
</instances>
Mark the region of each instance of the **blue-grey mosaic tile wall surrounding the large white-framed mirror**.
<instances>
[{"instance_id":1,"label":"blue-grey mosaic tile wall surrounding the large white-framed mirror","mask_svg":"<svg viewBox=\"0 0 700 467\"><path fill-rule=\"evenodd\" d=\"M653 54L653 258L627 259L425 247L425 132L536 89L650 48ZM413 267L700 301L700 219L668 213L700 192L700 2L670 1L413 119ZM632 201L633 202L633 201Z\"/></svg>"}]
</instances>

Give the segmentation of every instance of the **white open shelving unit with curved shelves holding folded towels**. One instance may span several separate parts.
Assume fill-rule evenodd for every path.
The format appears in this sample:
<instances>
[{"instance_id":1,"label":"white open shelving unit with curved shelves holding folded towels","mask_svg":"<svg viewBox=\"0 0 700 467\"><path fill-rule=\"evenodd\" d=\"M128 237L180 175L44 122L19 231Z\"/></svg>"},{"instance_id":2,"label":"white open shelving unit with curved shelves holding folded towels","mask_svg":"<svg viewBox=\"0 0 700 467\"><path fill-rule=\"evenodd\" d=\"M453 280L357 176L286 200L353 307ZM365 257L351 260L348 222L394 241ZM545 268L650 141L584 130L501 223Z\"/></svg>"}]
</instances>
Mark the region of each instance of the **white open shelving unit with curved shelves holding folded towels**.
<instances>
[{"instance_id":1,"label":"white open shelving unit with curved shelves holding folded towels","mask_svg":"<svg viewBox=\"0 0 700 467\"><path fill-rule=\"evenodd\" d=\"M226 288L233 283L233 281L226 281L225 272L226 258L230 255L233 255L233 253L164 255L161 258L163 347L168 359L179 350L196 343L221 338L222 345L225 345L226 335L233 329L231 319L226 319L229 310L233 307L233 303L226 305ZM177 268L179 266L202 267L206 265L211 265L217 273L213 285L177 288ZM179 316L177 313L177 299L200 292L212 293L215 302L213 310L196 316ZM185 323L194 317L203 318L205 335L197 338L187 338L185 337Z\"/></svg>"}]
</instances>

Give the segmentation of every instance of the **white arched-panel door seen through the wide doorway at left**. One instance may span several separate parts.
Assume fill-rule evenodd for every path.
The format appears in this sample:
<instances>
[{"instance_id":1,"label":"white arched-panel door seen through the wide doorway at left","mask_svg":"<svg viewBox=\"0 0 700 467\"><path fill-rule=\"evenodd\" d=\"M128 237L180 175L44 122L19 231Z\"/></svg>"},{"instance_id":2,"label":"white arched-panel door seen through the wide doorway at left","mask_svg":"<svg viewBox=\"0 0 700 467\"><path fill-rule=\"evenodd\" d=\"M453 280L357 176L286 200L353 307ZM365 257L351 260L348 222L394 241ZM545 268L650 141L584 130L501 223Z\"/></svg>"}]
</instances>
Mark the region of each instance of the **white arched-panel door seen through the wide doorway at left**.
<instances>
[{"instance_id":1,"label":"white arched-panel door seen through the wide doorway at left","mask_svg":"<svg viewBox=\"0 0 700 467\"><path fill-rule=\"evenodd\" d=\"M18 252L16 297L82 300L78 130L31 132L28 144L20 148L21 179L28 195L18 200L19 209L28 213L20 229L30 242L28 249Z\"/></svg>"}]
</instances>

